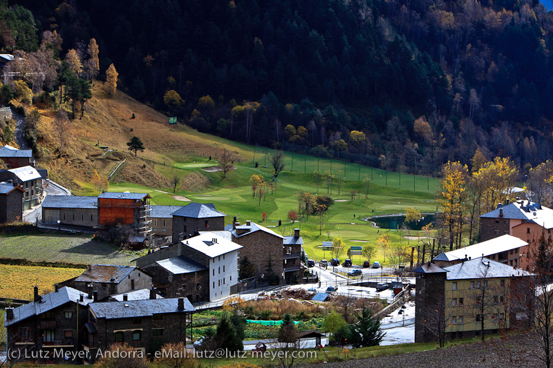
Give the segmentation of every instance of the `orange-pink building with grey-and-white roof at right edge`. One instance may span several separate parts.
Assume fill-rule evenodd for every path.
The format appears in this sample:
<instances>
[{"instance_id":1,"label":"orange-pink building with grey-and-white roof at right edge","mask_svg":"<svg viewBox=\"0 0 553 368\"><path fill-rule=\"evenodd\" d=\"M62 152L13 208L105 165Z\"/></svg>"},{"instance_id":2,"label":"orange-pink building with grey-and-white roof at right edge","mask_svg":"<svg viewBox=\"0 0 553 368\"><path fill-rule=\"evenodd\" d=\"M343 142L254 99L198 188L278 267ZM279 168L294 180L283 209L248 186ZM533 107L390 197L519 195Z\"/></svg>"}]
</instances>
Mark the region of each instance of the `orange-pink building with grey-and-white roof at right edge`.
<instances>
[{"instance_id":1,"label":"orange-pink building with grey-and-white roof at right edge","mask_svg":"<svg viewBox=\"0 0 553 368\"><path fill-rule=\"evenodd\" d=\"M530 235L539 233L539 236L544 229L549 233L544 226L550 226L552 218L553 210L541 204L530 200L507 200L505 204L498 204L494 211L480 216L480 241L509 234L528 242Z\"/></svg>"}]
</instances>

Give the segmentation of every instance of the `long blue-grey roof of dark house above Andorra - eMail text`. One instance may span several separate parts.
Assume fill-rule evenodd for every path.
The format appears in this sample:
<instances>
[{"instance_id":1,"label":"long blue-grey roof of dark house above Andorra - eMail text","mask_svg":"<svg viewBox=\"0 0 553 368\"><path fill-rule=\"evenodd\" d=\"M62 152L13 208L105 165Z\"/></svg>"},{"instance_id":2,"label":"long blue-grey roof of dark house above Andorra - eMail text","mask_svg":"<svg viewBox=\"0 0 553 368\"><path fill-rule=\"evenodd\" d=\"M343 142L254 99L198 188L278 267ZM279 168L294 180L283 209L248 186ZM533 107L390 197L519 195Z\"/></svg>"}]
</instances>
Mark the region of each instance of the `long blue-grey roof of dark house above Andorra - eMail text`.
<instances>
[{"instance_id":1,"label":"long blue-grey roof of dark house above Andorra - eMail text","mask_svg":"<svg viewBox=\"0 0 553 368\"><path fill-rule=\"evenodd\" d=\"M185 309L178 310L178 298L127 300L126 302L91 303L89 308L96 318L133 318L147 317L154 314L194 312L196 309L185 299Z\"/></svg>"}]
</instances>

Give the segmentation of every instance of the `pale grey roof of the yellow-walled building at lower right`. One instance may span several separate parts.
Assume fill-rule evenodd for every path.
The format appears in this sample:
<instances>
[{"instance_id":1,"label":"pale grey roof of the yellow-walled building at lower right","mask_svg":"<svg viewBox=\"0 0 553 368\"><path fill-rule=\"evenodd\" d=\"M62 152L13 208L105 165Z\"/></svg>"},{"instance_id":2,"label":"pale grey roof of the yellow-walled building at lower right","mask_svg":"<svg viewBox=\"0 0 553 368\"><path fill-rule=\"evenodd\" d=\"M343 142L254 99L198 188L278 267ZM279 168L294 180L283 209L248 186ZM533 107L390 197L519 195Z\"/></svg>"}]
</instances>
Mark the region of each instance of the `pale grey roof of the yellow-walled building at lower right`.
<instances>
[{"instance_id":1,"label":"pale grey roof of the yellow-walled building at lower right","mask_svg":"<svg viewBox=\"0 0 553 368\"><path fill-rule=\"evenodd\" d=\"M509 278L511 276L533 275L533 273L529 273L523 269L515 269L507 264L492 261L487 258L472 259L458 264L453 264L453 266L444 267L444 269L448 271L447 280Z\"/></svg>"}]
</instances>

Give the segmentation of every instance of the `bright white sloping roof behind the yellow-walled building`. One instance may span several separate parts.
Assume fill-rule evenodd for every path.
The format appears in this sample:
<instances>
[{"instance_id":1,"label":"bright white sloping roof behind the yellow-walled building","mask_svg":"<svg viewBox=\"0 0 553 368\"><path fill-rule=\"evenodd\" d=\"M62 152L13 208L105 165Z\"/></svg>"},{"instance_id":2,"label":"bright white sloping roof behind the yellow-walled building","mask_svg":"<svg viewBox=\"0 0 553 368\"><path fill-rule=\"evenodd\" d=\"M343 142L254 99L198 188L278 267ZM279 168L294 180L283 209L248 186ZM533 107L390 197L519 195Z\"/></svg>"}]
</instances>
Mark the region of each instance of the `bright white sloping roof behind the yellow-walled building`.
<instances>
[{"instance_id":1,"label":"bright white sloping roof behind the yellow-walled building","mask_svg":"<svg viewBox=\"0 0 553 368\"><path fill-rule=\"evenodd\" d=\"M487 257L488 255L510 251L511 249L520 248L525 245L528 245L528 243L524 240L505 234L494 239L486 240L485 242L465 246L465 248L440 253L434 258L434 260L451 262L455 260L462 260L465 258L465 255L467 258L482 257L482 253L485 257Z\"/></svg>"}]
</instances>

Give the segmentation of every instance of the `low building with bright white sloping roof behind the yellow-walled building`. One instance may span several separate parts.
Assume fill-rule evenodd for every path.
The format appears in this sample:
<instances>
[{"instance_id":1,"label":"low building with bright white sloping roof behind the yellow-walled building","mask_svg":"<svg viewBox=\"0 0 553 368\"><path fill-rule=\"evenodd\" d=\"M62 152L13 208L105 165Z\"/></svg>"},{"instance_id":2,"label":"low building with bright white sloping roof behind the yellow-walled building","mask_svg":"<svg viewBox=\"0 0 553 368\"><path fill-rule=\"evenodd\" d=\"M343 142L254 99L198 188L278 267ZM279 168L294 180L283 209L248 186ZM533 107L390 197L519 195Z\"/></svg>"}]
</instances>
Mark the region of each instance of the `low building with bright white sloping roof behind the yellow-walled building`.
<instances>
[{"instance_id":1,"label":"low building with bright white sloping roof behind the yellow-walled building","mask_svg":"<svg viewBox=\"0 0 553 368\"><path fill-rule=\"evenodd\" d=\"M447 267L483 256L511 267L526 269L529 264L528 255L527 242L512 235L501 235L485 242L441 253L433 262L438 267Z\"/></svg>"}]
</instances>

